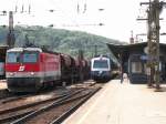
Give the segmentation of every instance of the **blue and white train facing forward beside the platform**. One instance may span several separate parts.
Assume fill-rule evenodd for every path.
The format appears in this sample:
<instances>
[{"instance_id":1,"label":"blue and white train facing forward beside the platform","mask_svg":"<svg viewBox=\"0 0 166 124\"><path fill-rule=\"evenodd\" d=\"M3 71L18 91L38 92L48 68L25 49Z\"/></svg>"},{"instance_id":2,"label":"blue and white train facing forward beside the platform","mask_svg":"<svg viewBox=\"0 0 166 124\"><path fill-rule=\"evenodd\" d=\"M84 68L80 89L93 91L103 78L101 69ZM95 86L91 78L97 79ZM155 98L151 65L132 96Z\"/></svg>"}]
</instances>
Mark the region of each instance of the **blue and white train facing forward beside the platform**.
<instances>
[{"instance_id":1,"label":"blue and white train facing forward beside the platform","mask_svg":"<svg viewBox=\"0 0 166 124\"><path fill-rule=\"evenodd\" d=\"M91 60L91 78L95 81L108 81L112 78L111 59L96 56Z\"/></svg>"}]
</instances>

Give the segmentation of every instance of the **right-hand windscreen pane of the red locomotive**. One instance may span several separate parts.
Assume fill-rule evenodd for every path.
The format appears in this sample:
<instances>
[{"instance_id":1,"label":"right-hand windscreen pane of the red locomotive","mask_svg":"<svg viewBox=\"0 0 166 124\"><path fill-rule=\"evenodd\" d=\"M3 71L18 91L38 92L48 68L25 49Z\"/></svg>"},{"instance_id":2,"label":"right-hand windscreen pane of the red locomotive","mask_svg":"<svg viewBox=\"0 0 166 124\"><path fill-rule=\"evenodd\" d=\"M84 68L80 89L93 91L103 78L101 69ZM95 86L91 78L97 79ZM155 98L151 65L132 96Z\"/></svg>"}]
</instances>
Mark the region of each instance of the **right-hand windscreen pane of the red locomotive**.
<instances>
[{"instance_id":1,"label":"right-hand windscreen pane of the red locomotive","mask_svg":"<svg viewBox=\"0 0 166 124\"><path fill-rule=\"evenodd\" d=\"M23 62L37 62L38 61L38 53L37 52L24 52L23 53Z\"/></svg>"}]
</instances>

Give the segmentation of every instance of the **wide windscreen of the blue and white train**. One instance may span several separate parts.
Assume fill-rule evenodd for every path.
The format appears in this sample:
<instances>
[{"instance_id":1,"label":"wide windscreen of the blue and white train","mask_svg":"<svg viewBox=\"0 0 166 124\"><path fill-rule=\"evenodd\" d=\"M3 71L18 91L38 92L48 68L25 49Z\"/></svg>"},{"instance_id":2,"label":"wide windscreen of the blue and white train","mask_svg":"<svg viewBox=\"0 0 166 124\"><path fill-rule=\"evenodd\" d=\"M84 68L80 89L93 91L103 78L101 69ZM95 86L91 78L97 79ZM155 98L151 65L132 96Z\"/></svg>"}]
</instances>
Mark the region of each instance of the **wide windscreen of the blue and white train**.
<instances>
[{"instance_id":1,"label":"wide windscreen of the blue and white train","mask_svg":"<svg viewBox=\"0 0 166 124\"><path fill-rule=\"evenodd\" d=\"M93 68L98 68L98 69L107 69L108 68L108 63L106 60L95 60Z\"/></svg>"}]
</instances>

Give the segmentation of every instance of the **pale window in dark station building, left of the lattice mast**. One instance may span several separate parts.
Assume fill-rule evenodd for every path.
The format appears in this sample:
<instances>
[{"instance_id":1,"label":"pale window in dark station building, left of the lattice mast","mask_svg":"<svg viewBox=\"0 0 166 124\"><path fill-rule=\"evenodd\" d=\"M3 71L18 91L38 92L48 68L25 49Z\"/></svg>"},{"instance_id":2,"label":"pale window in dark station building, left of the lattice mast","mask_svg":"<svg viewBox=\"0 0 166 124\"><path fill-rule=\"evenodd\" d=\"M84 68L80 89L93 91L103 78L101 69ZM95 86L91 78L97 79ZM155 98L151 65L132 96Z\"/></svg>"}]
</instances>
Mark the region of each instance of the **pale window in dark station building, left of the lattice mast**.
<instances>
[{"instance_id":1,"label":"pale window in dark station building, left of the lattice mast","mask_svg":"<svg viewBox=\"0 0 166 124\"><path fill-rule=\"evenodd\" d=\"M142 62L132 62L132 73L142 73Z\"/></svg>"}]
</instances>

